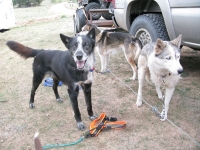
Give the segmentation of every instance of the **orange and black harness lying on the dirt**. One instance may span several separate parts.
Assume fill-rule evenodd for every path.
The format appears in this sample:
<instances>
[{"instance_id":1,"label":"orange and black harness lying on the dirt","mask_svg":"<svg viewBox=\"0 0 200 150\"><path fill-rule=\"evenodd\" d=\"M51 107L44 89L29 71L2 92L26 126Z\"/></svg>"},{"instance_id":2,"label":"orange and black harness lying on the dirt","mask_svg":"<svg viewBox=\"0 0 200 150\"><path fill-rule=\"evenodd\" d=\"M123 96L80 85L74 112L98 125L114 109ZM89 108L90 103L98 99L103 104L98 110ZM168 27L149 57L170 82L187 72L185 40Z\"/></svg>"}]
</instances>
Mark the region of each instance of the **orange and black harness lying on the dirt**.
<instances>
[{"instance_id":1,"label":"orange and black harness lying on the dirt","mask_svg":"<svg viewBox=\"0 0 200 150\"><path fill-rule=\"evenodd\" d=\"M90 130L86 133L85 137L98 136L100 131L109 129L123 129L126 127L126 122L117 121L117 118L107 117L105 113L102 113L99 118L93 120L90 124Z\"/></svg>"}]
</instances>

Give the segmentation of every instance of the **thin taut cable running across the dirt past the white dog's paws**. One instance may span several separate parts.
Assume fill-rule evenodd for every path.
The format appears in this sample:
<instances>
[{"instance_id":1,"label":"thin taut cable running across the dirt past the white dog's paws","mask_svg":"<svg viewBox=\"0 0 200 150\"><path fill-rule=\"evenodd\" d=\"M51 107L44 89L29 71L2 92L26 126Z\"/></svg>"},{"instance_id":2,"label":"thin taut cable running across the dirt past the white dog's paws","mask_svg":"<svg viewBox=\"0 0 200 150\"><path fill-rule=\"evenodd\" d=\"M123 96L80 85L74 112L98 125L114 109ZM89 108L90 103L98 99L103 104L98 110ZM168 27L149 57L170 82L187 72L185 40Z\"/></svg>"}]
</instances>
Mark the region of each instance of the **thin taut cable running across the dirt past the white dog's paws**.
<instances>
[{"instance_id":1,"label":"thin taut cable running across the dirt past the white dog's paws","mask_svg":"<svg viewBox=\"0 0 200 150\"><path fill-rule=\"evenodd\" d=\"M138 96L138 94L130 87L128 86L125 82L123 82L120 78L118 78L112 71L110 71L110 73L117 78L121 83L123 83L126 87L128 87L136 96ZM155 109L152 105L150 105L144 98L142 98L142 101L145 102L149 107L152 108L152 110L155 111L156 114L160 114L160 112L157 111L157 109ZM197 144L198 147L200 147L200 143L198 143L196 140L194 140L191 136L189 136L185 131L183 131L180 127L178 127L175 123L173 123L172 121L170 121L169 119L167 119L167 121L169 123L171 123L171 125L173 125L174 127L176 127L178 130L180 130L183 134L185 134L191 141L193 141L195 144Z\"/></svg>"}]
</instances>

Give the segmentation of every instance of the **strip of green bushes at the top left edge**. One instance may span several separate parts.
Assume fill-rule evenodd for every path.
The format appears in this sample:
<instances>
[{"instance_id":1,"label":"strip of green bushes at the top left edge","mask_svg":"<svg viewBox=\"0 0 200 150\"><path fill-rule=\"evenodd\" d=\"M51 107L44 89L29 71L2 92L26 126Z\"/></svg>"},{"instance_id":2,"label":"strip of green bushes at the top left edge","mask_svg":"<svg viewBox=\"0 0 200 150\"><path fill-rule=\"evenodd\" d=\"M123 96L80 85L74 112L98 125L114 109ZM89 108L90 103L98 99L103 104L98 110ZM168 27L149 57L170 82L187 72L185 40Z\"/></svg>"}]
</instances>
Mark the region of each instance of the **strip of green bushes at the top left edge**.
<instances>
[{"instance_id":1,"label":"strip of green bushes at the top left edge","mask_svg":"<svg viewBox=\"0 0 200 150\"><path fill-rule=\"evenodd\" d=\"M13 0L13 5L17 7L39 6L43 0Z\"/></svg>"}]
</instances>

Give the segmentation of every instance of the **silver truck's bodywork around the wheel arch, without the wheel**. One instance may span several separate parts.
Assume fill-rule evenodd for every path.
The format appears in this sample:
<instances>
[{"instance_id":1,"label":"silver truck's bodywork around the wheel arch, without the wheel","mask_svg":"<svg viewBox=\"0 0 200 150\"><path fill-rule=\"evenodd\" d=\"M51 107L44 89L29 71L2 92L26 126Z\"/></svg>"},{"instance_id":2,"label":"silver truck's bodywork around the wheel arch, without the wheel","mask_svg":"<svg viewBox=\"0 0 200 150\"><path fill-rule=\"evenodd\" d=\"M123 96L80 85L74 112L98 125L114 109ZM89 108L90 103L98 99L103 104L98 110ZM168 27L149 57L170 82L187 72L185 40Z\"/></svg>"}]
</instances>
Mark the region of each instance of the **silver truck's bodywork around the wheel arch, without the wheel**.
<instances>
[{"instance_id":1,"label":"silver truck's bodywork around the wheel arch, without the wheel","mask_svg":"<svg viewBox=\"0 0 200 150\"><path fill-rule=\"evenodd\" d=\"M114 17L129 31L140 14L161 13L170 40L182 34L182 45L200 49L200 0L115 0Z\"/></svg>"}]
</instances>

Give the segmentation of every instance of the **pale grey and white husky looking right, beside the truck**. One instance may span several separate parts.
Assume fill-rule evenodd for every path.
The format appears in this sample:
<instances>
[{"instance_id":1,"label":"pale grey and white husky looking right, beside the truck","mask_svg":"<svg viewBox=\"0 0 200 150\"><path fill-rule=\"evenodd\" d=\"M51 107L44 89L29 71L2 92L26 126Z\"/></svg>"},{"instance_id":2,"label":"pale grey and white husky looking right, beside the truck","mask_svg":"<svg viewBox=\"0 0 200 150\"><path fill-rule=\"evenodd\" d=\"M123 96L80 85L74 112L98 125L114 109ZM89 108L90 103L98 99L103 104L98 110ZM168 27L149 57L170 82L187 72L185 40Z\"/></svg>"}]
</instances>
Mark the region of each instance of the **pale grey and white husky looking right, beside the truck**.
<instances>
[{"instance_id":1,"label":"pale grey and white husky looking right, beside the truck","mask_svg":"<svg viewBox=\"0 0 200 150\"><path fill-rule=\"evenodd\" d=\"M138 58L139 89L136 105L142 105L144 78L147 81L151 80L156 86L158 98L165 97L160 116L161 121L167 119L169 102L180 79L180 74L183 72L183 67L179 61L181 38L182 36L179 35L170 42L157 39L155 43L145 45ZM165 88L164 95L161 92L161 86Z\"/></svg>"}]
</instances>

